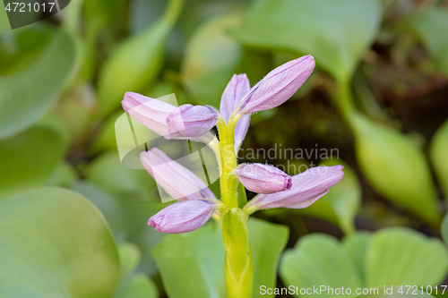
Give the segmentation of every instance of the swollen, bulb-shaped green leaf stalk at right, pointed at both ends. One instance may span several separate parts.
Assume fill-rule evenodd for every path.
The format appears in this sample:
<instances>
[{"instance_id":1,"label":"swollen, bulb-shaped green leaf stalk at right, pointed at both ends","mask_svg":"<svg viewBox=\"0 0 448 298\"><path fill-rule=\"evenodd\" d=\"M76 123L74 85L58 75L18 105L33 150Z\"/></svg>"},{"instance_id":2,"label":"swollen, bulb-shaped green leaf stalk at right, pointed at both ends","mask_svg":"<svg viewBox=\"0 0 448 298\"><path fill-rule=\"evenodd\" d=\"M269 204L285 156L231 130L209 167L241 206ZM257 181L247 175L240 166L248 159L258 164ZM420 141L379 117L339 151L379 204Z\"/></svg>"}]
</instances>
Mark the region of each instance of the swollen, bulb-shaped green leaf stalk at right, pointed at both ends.
<instances>
[{"instance_id":1,"label":"swollen, bulb-shaped green leaf stalk at right, pointed at both ends","mask_svg":"<svg viewBox=\"0 0 448 298\"><path fill-rule=\"evenodd\" d=\"M367 182L385 199L438 226L438 200L423 153L391 127L362 115L352 121L358 164Z\"/></svg>"}]
</instances>

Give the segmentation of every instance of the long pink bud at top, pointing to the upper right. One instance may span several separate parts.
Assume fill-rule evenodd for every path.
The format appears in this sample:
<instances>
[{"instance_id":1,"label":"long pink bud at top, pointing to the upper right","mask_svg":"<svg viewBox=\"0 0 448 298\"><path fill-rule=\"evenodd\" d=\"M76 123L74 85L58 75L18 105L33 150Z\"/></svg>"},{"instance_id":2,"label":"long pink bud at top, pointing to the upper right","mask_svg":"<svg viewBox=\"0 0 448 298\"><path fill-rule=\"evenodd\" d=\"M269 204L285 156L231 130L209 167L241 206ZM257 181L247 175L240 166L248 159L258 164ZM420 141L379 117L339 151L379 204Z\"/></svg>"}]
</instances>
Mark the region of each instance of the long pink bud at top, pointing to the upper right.
<instances>
[{"instance_id":1,"label":"long pink bud at top, pointing to the upper right","mask_svg":"<svg viewBox=\"0 0 448 298\"><path fill-rule=\"evenodd\" d=\"M280 106L297 92L314 70L311 55L280 65L259 81L236 108L236 113L252 114Z\"/></svg>"}]
</instances>

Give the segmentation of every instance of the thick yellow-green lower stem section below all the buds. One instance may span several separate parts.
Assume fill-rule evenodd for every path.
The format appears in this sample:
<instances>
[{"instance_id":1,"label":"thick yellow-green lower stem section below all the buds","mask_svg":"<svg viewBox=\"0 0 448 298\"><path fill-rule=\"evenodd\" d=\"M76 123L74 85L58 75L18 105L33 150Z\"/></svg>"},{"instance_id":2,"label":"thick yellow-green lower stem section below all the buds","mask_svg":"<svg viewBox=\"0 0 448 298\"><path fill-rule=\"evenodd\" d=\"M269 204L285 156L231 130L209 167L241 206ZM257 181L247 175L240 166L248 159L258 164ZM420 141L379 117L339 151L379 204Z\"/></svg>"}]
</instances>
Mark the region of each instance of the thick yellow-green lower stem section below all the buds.
<instances>
[{"instance_id":1,"label":"thick yellow-green lower stem section below all the buds","mask_svg":"<svg viewBox=\"0 0 448 298\"><path fill-rule=\"evenodd\" d=\"M228 298L250 298L254 264L249 243L249 217L242 209L221 213L221 230L226 257L224 270Z\"/></svg>"}]
</instances>

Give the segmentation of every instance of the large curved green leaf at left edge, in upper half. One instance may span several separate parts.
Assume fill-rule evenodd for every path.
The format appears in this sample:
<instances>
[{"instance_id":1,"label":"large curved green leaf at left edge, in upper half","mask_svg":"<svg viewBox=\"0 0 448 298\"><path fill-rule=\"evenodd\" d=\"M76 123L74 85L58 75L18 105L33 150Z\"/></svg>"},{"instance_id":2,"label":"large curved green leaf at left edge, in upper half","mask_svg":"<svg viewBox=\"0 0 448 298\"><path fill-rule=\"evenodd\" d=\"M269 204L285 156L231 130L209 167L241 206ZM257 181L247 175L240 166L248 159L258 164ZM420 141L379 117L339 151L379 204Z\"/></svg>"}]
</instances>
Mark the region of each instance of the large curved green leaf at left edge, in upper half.
<instances>
[{"instance_id":1,"label":"large curved green leaf at left edge, in upper half","mask_svg":"<svg viewBox=\"0 0 448 298\"><path fill-rule=\"evenodd\" d=\"M0 139L23 132L53 104L75 60L72 39L60 30L26 70L0 76Z\"/></svg>"}]
</instances>

